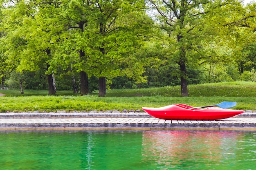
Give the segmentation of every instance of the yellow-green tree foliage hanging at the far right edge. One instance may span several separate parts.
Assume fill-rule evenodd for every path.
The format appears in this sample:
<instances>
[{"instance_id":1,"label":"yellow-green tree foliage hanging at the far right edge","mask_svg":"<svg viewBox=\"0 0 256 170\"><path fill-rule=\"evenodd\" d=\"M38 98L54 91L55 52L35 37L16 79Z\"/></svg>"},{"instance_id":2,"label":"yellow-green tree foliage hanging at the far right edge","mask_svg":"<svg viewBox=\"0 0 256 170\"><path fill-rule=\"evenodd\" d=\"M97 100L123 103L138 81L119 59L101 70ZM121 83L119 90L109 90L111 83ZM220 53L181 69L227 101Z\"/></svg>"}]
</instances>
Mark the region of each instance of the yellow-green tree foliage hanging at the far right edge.
<instances>
[{"instance_id":1,"label":"yellow-green tree foliage hanging at the far right edge","mask_svg":"<svg viewBox=\"0 0 256 170\"><path fill-rule=\"evenodd\" d=\"M251 71L256 66L256 3L247 4L246 7L237 10L235 17L227 19L225 24L232 28L235 35L233 42L234 55L240 74Z\"/></svg>"}]
</instances>

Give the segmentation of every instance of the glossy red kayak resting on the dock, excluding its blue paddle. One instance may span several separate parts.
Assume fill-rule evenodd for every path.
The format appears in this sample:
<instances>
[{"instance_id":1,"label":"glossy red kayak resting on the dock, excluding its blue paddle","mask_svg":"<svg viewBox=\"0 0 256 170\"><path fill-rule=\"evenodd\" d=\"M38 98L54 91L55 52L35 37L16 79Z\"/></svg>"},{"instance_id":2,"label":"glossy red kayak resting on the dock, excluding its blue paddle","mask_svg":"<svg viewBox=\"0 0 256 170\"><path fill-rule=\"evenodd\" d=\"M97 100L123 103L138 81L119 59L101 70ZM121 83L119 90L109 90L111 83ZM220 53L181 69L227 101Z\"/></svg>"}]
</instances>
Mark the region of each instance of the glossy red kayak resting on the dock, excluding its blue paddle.
<instances>
[{"instance_id":1,"label":"glossy red kayak resting on the dock, excluding its blue paddle","mask_svg":"<svg viewBox=\"0 0 256 170\"><path fill-rule=\"evenodd\" d=\"M185 104L173 104L160 108L143 107L142 109L153 117L171 120L216 120L234 117L245 112L219 107L200 109Z\"/></svg>"}]
</instances>

